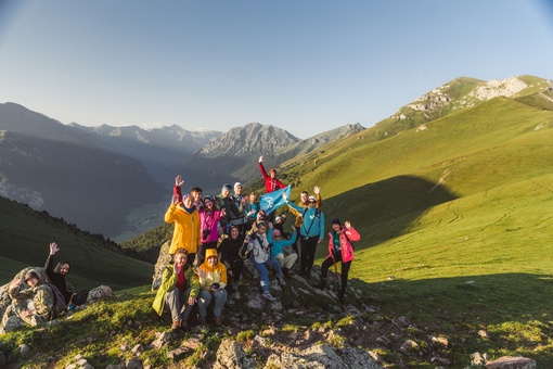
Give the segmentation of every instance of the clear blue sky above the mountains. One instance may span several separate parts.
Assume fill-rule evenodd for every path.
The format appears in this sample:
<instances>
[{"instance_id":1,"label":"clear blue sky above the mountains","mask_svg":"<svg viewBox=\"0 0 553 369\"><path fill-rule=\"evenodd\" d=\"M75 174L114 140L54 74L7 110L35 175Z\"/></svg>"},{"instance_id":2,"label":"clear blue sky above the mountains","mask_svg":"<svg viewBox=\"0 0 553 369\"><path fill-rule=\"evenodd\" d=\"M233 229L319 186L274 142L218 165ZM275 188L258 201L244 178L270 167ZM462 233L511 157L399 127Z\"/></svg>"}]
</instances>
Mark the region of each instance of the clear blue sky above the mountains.
<instances>
[{"instance_id":1,"label":"clear blue sky above the mountains","mask_svg":"<svg viewBox=\"0 0 553 369\"><path fill-rule=\"evenodd\" d=\"M552 65L551 1L0 0L0 102L64 124L307 138Z\"/></svg>"}]
</instances>

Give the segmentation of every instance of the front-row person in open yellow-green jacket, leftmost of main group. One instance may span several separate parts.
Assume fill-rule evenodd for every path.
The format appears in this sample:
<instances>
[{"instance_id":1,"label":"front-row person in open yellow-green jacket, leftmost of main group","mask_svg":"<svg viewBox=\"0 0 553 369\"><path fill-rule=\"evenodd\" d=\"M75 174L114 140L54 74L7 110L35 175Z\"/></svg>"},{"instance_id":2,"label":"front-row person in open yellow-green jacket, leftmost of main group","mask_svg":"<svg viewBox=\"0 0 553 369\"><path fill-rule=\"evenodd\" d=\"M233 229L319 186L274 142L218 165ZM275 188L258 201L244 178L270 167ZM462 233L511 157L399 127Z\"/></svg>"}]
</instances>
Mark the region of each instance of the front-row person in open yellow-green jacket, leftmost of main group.
<instances>
[{"instance_id":1,"label":"front-row person in open yellow-green jacket, leftmost of main group","mask_svg":"<svg viewBox=\"0 0 553 369\"><path fill-rule=\"evenodd\" d=\"M162 316L164 311L171 314L171 329L189 327L188 318L200 293L197 277L187 258L187 250L177 249L175 264L165 267L162 284L152 304L157 315Z\"/></svg>"}]
</instances>

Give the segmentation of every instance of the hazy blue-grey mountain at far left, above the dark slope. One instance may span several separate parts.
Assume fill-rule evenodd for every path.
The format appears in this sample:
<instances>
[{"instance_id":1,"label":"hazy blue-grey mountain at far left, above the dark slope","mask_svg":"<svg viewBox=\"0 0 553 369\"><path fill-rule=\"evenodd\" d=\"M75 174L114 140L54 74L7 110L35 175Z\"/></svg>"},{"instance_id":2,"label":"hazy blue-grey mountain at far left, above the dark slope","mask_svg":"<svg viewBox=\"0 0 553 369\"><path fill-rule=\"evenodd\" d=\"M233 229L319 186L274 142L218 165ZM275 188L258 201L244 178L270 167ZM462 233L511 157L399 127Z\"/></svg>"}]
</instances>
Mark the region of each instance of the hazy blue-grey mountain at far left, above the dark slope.
<instances>
[{"instance_id":1,"label":"hazy blue-grey mountain at far left, above the dark slope","mask_svg":"<svg viewBox=\"0 0 553 369\"><path fill-rule=\"evenodd\" d=\"M21 105L0 104L0 194L82 229L117 234L137 203L165 193L136 160Z\"/></svg>"}]
</instances>

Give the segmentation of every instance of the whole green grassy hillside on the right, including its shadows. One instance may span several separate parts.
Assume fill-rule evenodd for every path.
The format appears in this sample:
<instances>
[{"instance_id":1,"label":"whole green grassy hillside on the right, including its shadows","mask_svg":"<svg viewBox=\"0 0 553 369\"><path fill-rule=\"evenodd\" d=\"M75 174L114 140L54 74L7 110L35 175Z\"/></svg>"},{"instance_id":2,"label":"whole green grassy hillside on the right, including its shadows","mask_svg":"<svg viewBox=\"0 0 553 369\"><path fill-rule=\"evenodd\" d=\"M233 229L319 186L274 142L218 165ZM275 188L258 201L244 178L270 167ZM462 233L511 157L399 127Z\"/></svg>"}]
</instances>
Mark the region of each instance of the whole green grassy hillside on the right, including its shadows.
<instances>
[{"instance_id":1,"label":"whole green grassy hillside on the right, including its shadows","mask_svg":"<svg viewBox=\"0 0 553 369\"><path fill-rule=\"evenodd\" d=\"M346 140L304 165L300 187L321 186L326 221L360 231L351 275L384 310L466 335L466 353L553 365L536 328L552 320L553 113L496 99L427 126Z\"/></svg>"}]
</instances>

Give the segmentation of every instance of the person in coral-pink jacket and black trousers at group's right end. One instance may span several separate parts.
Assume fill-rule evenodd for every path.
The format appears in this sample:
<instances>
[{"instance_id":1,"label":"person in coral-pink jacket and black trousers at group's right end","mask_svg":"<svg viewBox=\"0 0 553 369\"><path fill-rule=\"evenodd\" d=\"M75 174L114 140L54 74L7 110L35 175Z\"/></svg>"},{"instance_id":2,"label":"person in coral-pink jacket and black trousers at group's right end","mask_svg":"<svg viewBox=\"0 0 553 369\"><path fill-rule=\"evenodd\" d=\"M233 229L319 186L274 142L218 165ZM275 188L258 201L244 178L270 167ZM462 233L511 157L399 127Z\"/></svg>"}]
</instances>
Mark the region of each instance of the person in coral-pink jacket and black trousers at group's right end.
<instances>
[{"instance_id":1,"label":"person in coral-pink jacket and black trousers at group's right end","mask_svg":"<svg viewBox=\"0 0 553 369\"><path fill-rule=\"evenodd\" d=\"M356 231L349 221L344 222L344 227L338 218L332 220L332 231L329 232L329 256L324 259L321 266L321 283L319 289L324 290L326 287L326 276L329 268L336 263L342 263L342 282L338 294L338 300L344 303L346 288L348 284L348 273L353 260L353 245L351 242L357 242L361 236Z\"/></svg>"}]
</instances>

